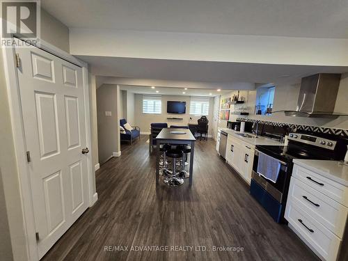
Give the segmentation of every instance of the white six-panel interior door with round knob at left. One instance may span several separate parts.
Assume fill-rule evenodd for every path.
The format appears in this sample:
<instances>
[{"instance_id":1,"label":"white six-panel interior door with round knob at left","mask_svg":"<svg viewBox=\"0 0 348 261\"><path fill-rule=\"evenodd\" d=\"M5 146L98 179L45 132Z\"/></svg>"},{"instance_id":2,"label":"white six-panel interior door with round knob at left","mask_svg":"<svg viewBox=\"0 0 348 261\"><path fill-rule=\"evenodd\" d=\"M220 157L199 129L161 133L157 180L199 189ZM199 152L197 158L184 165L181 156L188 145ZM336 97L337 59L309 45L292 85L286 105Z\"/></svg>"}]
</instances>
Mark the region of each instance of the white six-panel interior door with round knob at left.
<instances>
[{"instance_id":1,"label":"white six-panel interior door with round knob at left","mask_svg":"<svg viewBox=\"0 0 348 261\"><path fill-rule=\"evenodd\" d=\"M36 47L17 70L39 257L88 207L82 68Z\"/></svg>"}]
</instances>

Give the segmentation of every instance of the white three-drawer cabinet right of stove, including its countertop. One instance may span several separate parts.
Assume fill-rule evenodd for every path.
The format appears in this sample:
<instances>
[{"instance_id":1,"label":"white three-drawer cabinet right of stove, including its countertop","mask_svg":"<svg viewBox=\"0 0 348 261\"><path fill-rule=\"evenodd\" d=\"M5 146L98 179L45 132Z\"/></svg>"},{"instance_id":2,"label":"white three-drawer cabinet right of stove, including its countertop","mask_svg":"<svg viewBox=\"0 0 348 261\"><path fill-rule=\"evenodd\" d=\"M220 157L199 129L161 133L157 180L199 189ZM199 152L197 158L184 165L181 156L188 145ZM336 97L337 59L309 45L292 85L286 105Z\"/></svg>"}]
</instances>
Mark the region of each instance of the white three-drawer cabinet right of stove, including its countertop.
<instances>
[{"instance_id":1,"label":"white three-drawer cabinet right of stove, including its countertop","mask_svg":"<svg viewBox=\"0 0 348 261\"><path fill-rule=\"evenodd\" d=\"M340 249L345 251L347 214L348 166L294 159L285 219L322 260L338 260Z\"/></svg>"}]
</instances>

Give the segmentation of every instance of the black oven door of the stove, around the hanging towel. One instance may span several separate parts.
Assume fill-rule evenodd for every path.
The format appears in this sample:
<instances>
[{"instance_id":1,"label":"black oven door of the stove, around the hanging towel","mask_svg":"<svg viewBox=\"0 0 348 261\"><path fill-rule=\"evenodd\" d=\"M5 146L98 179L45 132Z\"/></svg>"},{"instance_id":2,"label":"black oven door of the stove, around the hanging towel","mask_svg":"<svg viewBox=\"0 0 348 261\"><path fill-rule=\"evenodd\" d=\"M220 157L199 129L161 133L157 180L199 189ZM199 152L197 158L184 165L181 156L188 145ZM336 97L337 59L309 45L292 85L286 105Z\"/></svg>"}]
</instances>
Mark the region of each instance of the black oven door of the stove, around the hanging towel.
<instances>
[{"instance_id":1,"label":"black oven door of the stove, around the hanging towel","mask_svg":"<svg viewBox=\"0 0 348 261\"><path fill-rule=\"evenodd\" d=\"M279 203L283 203L285 200L285 193L287 193L287 180L289 180L290 175L288 168L289 163L276 159L280 163L280 170L278 173L278 179L276 183L267 180L267 178L258 174L258 150L255 150L254 161L253 161L253 171L251 173L251 178L260 185L264 190L266 190L272 197L274 197Z\"/></svg>"}]
</instances>

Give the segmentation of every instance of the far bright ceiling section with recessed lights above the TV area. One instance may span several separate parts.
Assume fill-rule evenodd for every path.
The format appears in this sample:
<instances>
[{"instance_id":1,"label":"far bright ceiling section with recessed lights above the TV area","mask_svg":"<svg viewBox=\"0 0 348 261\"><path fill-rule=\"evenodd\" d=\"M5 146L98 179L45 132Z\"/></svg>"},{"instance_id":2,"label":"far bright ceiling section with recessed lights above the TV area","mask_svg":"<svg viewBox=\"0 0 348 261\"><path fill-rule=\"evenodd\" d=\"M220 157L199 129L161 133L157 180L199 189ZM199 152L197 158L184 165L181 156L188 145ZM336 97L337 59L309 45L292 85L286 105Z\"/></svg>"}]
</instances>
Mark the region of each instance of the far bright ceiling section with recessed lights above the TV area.
<instances>
[{"instance_id":1,"label":"far bright ceiling section with recessed lights above the TV area","mask_svg":"<svg viewBox=\"0 0 348 261\"><path fill-rule=\"evenodd\" d=\"M131 93L141 93L141 94L151 94L151 95L184 95L184 96L207 96L214 97L217 95L223 95L230 93L230 90L207 90L207 89L192 89L187 88L168 88L156 86L151 88L151 86L132 86L132 85L120 85L120 90L128 90ZM158 91L158 93L157 93Z\"/></svg>"}]
</instances>

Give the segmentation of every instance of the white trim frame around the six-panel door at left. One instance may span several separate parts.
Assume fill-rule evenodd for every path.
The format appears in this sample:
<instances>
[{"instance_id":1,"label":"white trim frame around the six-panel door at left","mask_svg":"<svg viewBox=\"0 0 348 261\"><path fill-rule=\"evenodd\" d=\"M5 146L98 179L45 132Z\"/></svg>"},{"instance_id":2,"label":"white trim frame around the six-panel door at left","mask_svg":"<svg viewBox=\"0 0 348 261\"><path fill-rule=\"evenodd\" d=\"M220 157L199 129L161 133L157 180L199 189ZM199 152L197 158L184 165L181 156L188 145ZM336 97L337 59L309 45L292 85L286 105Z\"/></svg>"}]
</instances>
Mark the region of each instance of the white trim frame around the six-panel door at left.
<instances>
[{"instance_id":1,"label":"white trim frame around the six-panel door at left","mask_svg":"<svg viewBox=\"0 0 348 261\"><path fill-rule=\"evenodd\" d=\"M13 35L13 38L20 36ZM86 124L86 145L91 148L90 140L90 101L88 86L88 64L78 58L58 49L54 45L40 40L40 49L63 58L63 60L74 63L82 68L83 88L84 88L84 109ZM24 135L24 124L22 119L21 101L19 96L19 81L17 67L15 63L15 47L2 48L3 68L6 77L6 89L8 93L8 103L10 106L11 127L15 145L15 157L17 160L17 170L19 177L19 192L21 193L22 212L24 219L24 233L26 239L26 251L29 260L39 260L38 244L35 238L35 219L33 211L33 200L31 196L31 183L29 178L29 168L26 162L26 140ZM87 155L88 169L88 200L91 207L97 201L97 192L93 193L93 175L95 174L92 166L92 155Z\"/></svg>"}]
</instances>

